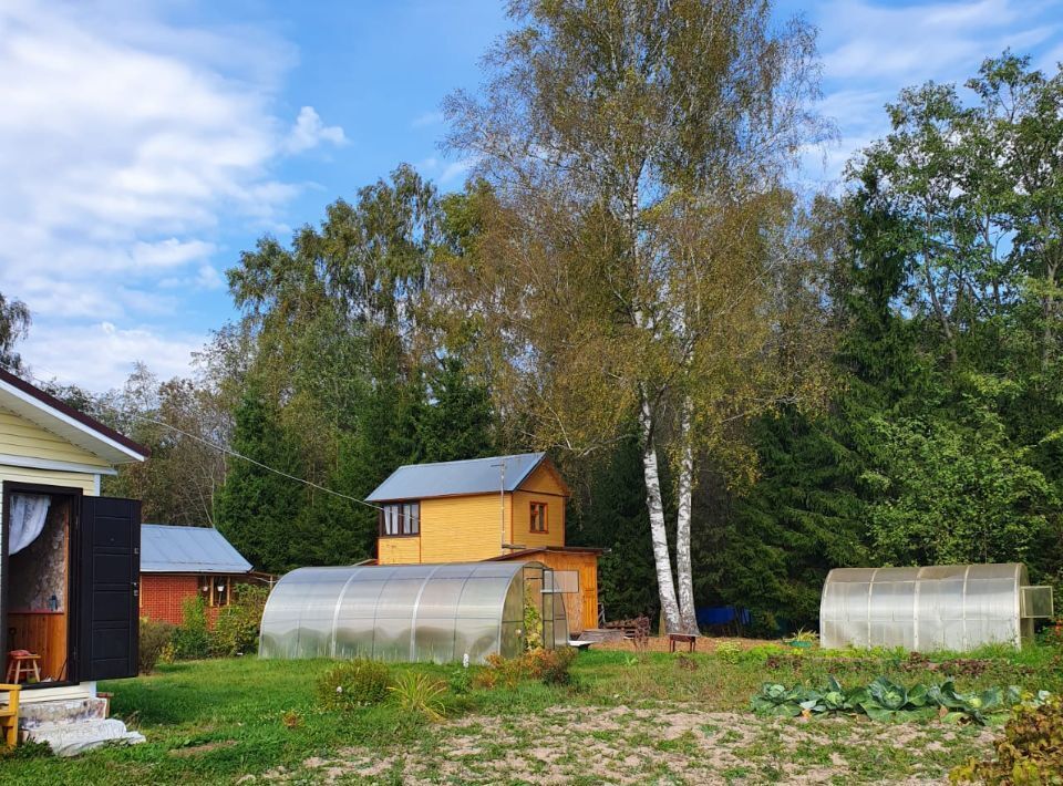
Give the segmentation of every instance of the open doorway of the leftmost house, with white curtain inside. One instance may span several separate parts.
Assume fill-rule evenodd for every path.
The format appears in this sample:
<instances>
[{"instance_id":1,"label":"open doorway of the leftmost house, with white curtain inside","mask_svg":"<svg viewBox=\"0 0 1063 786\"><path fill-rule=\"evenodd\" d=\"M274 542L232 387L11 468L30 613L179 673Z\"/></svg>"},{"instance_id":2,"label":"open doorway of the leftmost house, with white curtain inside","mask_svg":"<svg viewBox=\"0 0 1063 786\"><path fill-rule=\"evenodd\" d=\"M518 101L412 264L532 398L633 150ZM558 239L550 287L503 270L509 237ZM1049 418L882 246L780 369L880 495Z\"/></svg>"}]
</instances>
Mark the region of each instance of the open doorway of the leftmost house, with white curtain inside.
<instances>
[{"instance_id":1,"label":"open doorway of the leftmost house, with white curtain inside","mask_svg":"<svg viewBox=\"0 0 1063 786\"><path fill-rule=\"evenodd\" d=\"M4 484L4 652L39 655L40 679L30 676L27 687L74 681L71 555L79 498L76 489Z\"/></svg>"}]
</instances>

